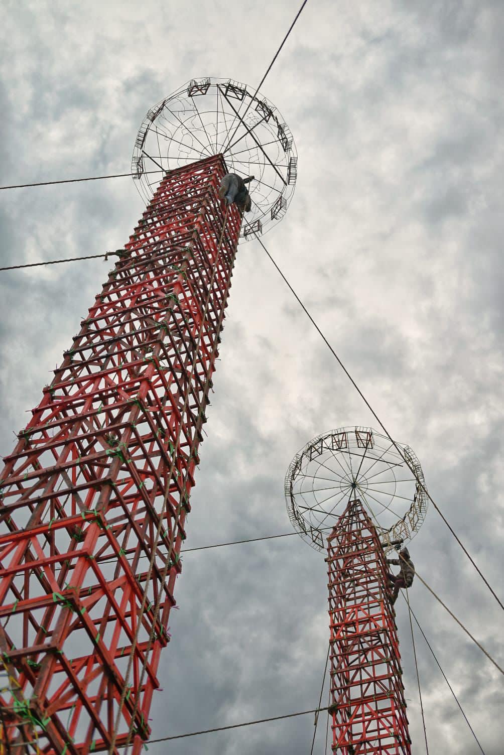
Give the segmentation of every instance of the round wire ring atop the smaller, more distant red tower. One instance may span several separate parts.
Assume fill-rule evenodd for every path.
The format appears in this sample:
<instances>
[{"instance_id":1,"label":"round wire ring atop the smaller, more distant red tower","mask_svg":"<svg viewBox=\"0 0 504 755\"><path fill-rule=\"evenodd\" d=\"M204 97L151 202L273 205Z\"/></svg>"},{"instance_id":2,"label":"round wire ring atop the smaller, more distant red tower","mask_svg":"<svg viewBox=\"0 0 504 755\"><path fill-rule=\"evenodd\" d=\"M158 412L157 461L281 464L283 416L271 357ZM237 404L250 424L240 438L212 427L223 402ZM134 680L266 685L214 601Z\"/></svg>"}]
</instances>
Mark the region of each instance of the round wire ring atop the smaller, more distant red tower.
<instances>
[{"instance_id":1,"label":"round wire ring atop the smaller, more distant red tower","mask_svg":"<svg viewBox=\"0 0 504 755\"><path fill-rule=\"evenodd\" d=\"M289 519L317 550L351 498L358 498L385 549L416 535L427 510L419 461L407 445L394 444L370 427L340 427L310 440L285 476ZM406 463L407 461L407 463Z\"/></svg>"}]
</instances>

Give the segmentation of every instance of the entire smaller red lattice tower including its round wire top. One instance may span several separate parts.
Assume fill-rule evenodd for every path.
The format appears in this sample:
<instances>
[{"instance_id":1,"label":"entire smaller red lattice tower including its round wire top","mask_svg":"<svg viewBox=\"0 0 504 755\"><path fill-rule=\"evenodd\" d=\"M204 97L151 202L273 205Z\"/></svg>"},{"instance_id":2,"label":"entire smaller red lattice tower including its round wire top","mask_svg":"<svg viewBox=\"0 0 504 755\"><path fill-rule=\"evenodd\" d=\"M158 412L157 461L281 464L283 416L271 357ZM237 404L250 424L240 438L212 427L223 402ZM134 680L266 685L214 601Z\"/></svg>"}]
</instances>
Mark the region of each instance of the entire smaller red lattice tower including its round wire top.
<instances>
[{"instance_id":1,"label":"entire smaller red lattice tower including its round wire top","mask_svg":"<svg viewBox=\"0 0 504 755\"><path fill-rule=\"evenodd\" d=\"M333 753L410 755L385 553L423 522L419 462L369 427L341 427L297 453L285 497L303 540L324 552L327 538Z\"/></svg>"}]
</instances>

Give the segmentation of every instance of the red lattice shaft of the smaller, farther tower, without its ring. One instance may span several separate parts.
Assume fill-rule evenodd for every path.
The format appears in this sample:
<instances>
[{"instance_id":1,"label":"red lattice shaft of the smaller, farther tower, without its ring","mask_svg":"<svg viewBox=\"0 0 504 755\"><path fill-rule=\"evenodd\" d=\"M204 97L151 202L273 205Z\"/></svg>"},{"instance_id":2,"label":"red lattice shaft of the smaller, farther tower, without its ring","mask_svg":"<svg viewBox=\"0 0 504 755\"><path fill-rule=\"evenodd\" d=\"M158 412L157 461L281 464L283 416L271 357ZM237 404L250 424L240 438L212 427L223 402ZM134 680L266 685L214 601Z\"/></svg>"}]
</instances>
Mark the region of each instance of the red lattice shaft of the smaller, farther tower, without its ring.
<instances>
[{"instance_id":1,"label":"red lattice shaft of the smaller, farther tower, without its ring","mask_svg":"<svg viewBox=\"0 0 504 755\"><path fill-rule=\"evenodd\" d=\"M352 499L327 541L333 753L410 755L395 613L376 529Z\"/></svg>"}]
</instances>

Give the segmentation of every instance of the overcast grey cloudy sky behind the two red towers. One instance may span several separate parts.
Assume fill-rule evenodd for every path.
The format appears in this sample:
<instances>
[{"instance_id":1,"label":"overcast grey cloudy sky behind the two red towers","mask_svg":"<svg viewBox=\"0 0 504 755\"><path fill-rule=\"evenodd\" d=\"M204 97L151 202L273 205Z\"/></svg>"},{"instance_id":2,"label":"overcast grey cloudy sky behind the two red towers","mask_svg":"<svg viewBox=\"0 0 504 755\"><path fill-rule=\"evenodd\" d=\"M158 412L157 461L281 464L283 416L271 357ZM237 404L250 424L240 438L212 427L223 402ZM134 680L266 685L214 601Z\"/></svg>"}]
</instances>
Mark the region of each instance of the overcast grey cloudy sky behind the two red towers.
<instances>
[{"instance_id":1,"label":"overcast grey cloudy sky behind the two red towers","mask_svg":"<svg viewBox=\"0 0 504 755\"><path fill-rule=\"evenodd\" d=\"M183 82L260 81L300 2L7 2L2 184L126 172L147 109ZM502 593L502 70L490 0L309 0L263 86L293 132L297 190L266 245L490 584ZM2 264L115 249L132 180L0 194ZM2 273L2 455L110 263ZM376 424L255 242L241 245L186 547L290 531L283 479L318 433ZM421 575L502 663L502 614L430 507ZM306 710L327 652L323 556L297 536L188 553L152 736ZM413 610L487 755L502 677L419 582ZM422 722L398 602L413 753ZM431 751L478 753L421 637ZM315 753L324 752L324 726ZM149 747L304 755L312 716Z\"/></svg>"}]
</instances>

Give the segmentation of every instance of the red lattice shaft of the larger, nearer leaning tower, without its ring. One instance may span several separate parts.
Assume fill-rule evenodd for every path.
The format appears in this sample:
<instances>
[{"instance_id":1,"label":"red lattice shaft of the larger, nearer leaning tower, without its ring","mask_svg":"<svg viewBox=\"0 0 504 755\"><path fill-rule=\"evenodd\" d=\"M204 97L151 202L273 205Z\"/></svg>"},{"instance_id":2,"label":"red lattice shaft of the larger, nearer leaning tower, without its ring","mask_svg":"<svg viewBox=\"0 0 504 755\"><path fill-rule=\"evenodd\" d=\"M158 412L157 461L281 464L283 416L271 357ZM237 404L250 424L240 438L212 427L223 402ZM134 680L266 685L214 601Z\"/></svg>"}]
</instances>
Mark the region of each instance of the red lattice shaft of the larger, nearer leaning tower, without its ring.
<instances>
[{"instance_id":1,"label":"red lattice shaft of the larger, nearer leaning tower, without its ring","mask_svg":"<svg viewBox=\"0 0 504 755\"><path fill-rule=\"evenodd\" d=\"M5 458L11 755L117 751L131 730L138 753L149 735L241 227L226 172L220 155L163 178Z\"/></svg>"}]
</instances>

